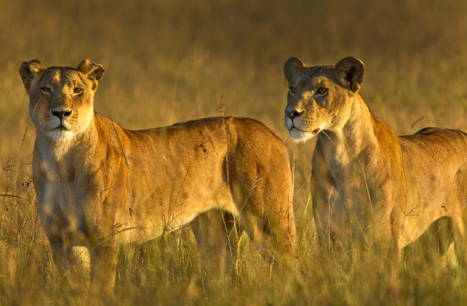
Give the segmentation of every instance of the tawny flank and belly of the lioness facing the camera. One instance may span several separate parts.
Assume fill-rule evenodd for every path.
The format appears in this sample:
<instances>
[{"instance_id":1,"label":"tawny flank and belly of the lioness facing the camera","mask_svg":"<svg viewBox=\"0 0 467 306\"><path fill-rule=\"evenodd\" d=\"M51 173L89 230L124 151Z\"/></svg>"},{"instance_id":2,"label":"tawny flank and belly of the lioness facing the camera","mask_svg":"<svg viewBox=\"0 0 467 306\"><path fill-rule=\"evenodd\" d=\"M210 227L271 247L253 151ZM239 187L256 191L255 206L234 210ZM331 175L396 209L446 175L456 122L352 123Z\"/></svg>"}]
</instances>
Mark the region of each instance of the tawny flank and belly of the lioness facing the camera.
<instances>
[{"instance_id":1,"label":"tawny flank and belly of the lioness facing the camera","mask_svg":"<svg viewBox=\"0 0 467 306\"><path fill-rule=\"evenodd\" d=\"M121 216L124 242L155 239L213 208L238 216L229 187L236 173L227 171L229 140L220 121L127 135L132 146L127 151L129 183Z\"/></svg>"}]
</instances>

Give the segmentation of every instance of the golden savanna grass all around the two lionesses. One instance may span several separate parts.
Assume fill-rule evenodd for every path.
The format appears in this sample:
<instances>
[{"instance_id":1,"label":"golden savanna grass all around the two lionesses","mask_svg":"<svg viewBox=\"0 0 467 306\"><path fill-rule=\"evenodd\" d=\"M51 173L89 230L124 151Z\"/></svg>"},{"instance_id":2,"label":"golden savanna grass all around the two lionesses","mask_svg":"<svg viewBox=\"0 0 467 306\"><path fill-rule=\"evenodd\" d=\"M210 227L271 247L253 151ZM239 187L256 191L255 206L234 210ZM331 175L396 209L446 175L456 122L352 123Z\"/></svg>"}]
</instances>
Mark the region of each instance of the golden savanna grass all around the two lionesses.
<instances>
[{"instance_id":1,"label":"golden savanna grass all around the two lionesses","mask_svg":"<svg viewBox=\"0 0 467 306\"><path fill-rule=\"evenodd\" d=\"M309 199L313 141L283 127L284 61L364 61L361 94L398 134L467 130L467 4L463 1L0 0L0 305L463 305L466 282L420 241L389 273L384 259L350 264L316 245ZM188 229L122 251L113 295L80 298L54 274L38 222L34 128L22 61L106 69L96 111L127 129L226 115L253 117L294 160L298 271L271 267L242 241L212 281ZM307 206L308 205L308 206Z\"/></svg>"}]
</instances>

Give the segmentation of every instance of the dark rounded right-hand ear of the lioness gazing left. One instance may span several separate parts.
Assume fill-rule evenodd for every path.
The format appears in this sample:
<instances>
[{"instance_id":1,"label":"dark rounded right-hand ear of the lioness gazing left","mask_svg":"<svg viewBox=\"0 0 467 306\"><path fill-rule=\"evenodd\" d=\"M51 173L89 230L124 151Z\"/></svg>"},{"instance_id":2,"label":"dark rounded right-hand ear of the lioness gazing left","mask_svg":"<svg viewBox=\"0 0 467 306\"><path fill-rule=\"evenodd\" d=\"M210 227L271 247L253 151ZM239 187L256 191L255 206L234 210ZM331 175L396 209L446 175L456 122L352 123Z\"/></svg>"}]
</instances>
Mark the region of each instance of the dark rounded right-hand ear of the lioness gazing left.
<instances>
[{"instance_id":1,"label":"dark rounded right-hand ear of the lioness gazing left","mask_svg":"<svg viewBox=\"0 0 467 306\"><path fill-rule=\"evenodd\" d=\"M360 89L365 74L363 61L355 57L345 57L334 67L335 77L340 85L350 88L354 93Z\"/></svg>"}]
</instances>

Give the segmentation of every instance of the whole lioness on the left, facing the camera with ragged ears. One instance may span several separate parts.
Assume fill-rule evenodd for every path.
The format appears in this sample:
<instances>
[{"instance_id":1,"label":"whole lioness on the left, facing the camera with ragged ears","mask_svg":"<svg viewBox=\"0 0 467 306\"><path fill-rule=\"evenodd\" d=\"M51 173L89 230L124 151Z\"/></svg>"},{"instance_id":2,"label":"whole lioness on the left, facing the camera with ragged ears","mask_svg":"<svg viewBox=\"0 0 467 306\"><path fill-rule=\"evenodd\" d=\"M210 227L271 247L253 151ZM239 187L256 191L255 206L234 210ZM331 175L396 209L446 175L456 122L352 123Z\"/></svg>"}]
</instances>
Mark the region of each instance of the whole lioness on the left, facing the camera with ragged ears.
<instances>
[{"instance_id":1,"label":"whole lioness on the left, facing the camera with ragged ears","mask_svg":"<svg viewBox=\"0 0 467 306\"><path fill-rule=\"evenodd\" d=\"M93 110L103 66L33 60L19 73L37 134L39 215L57 264L91 257L84 269L112 288L120 243L153 240L213 208L236 217L258 247L296 244L289 158L267 126L219 117L128 131Z\"/></svg>"}]
</instances>

